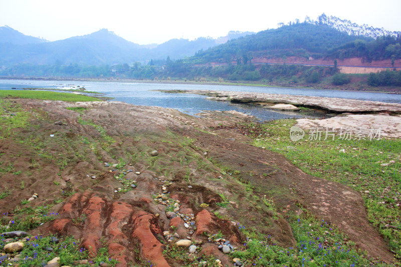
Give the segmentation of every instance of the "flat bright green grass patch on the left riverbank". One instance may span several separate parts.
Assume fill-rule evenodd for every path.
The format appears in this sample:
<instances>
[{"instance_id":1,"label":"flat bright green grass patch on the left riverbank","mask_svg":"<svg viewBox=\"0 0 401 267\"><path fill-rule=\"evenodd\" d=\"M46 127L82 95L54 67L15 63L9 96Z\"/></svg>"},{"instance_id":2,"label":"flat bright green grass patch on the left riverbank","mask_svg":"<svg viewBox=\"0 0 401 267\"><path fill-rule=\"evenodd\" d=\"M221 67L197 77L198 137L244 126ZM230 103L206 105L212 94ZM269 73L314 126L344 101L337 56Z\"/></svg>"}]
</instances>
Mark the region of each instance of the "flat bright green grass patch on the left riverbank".
<instances>
[{"instance_id":1,"label":"flat bright green grass patch on the left riverbank","mask_svg":"<svg viewBox=\"0 0 401 267\"><path fill-rule=\"evenodd\" d=\"M0 98L17 97L42 100L62 100L66 102L100 101L98 98L69 93L49 91L25 91L25 90L0 90Z\"/></svg>"}]
</instances>

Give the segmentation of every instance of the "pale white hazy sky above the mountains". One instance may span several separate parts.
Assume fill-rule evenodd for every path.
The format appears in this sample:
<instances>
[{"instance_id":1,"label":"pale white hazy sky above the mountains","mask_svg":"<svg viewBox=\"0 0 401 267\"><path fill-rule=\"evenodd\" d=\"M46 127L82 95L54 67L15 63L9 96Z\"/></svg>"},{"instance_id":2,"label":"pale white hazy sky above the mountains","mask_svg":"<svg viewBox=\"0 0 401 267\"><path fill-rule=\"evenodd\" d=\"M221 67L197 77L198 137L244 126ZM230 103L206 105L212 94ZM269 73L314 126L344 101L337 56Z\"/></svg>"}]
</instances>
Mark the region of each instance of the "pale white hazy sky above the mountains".
<instances>
[{"instance_id":1,"label":"pale white hazy sky above the mountains","mask_svg":"<svg viewBox=\"0 0 401 267\"><path fill-rule=\"evenodd\" d=\"M357 24L401 31L401 0L122 1L0 0L0 27L49 41L107 28L137 43L172 38L217 38L229 31L259 32L325 13Z\"/></svg>"}]
</instances>

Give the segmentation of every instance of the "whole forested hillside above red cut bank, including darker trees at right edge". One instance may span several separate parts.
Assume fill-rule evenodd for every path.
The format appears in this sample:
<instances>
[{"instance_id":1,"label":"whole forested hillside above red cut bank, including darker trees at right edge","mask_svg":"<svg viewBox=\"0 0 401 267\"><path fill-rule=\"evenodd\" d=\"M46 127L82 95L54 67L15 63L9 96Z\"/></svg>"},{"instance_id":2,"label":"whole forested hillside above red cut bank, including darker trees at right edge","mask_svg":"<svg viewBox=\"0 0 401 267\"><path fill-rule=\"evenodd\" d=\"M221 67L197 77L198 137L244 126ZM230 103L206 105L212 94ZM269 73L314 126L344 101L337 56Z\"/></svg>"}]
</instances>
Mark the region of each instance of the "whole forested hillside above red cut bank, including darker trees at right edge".
<instances>
[{"instance_id":1,"label":"whole forested hillside above red cut bank, including darker trees at right edge","mask_svg":"<svg viewBox=\"0 0 401 267\"><path fill-rule=\"evenodd\" d=\"M187 62L247 63L256 57L301 56L344 59L361 57L367 61L401 58L401 37L381 36L377 39L348 35L327 25L294 23L256 35L231 40L226 44L199 51Z\"/></svg>"}]
</instances>

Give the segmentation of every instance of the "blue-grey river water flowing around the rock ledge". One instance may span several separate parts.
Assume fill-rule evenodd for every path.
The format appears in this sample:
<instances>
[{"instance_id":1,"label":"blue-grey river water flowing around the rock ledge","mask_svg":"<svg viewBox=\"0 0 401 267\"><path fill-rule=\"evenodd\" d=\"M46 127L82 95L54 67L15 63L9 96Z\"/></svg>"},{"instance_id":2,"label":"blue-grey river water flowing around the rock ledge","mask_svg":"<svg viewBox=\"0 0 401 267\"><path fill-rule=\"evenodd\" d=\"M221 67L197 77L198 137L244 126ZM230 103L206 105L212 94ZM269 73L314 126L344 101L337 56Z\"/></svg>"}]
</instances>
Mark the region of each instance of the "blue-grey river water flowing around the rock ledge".
<instances>
[{"instance_id":1,"label":"blue-grey river water flowing around the rock ledge","mask_svg":"<svg viewBox=\"0 0 401 267\"><path fill-rule=\"evenodd\" d=\"M256 92L271 94L290 94L320 97L339 97L359 100L401 103L401 95L391 95L371 92L352 92L338 90L319 90L304 88L255 87L255 86L224 86L224 85L187 85L187 84L156 84L156 83L126 83L126 82L77 82L77 81L33 81L33 80L0 80L0 90L21 90L22 88L69 89L77 86L85 87L87 91L96 91L113 97L114 101L122 101L134 105L159 106L173 108L189 115L203 110L236 110L254 115L260 120L283 118L300 118L302 115L288 115L274 112L255 105L231 104L229 102L212 101L205 96L192 94L170 94L152 90L221 90L238 92ZM321 117L321 115L308 115Z\"/></svg>"}]
</instances>

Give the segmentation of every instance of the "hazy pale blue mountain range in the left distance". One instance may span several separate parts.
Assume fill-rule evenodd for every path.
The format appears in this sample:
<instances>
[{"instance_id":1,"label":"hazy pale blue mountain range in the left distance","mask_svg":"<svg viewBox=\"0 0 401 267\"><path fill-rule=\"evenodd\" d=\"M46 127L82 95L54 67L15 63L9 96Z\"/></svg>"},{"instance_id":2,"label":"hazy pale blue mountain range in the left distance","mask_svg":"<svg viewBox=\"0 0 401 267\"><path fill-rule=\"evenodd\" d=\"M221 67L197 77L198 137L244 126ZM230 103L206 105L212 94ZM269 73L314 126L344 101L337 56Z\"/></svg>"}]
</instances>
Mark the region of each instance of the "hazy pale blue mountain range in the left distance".
<instances>
[{"instance_id":1,"label":"hazy pale blue mountain range in the left distance","mask_svg":"<svg viewBox=\"0 0 401 267\"><path fill-rule=\"evenodd\" d=\"M114 65L167 57L176 60L247 34L252 33L230 32L216 40L201 37L193 41L172 39L160 45L138 45L102 29L89 35L47 42L6 26L0 28L0 65Z\"/></svg>"}]
</instances>

